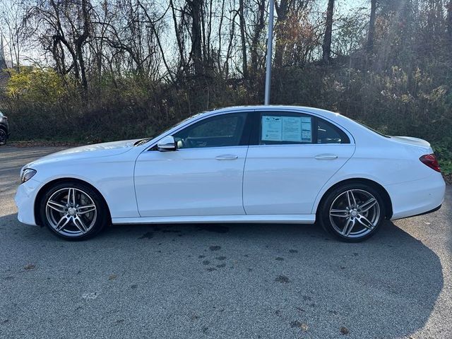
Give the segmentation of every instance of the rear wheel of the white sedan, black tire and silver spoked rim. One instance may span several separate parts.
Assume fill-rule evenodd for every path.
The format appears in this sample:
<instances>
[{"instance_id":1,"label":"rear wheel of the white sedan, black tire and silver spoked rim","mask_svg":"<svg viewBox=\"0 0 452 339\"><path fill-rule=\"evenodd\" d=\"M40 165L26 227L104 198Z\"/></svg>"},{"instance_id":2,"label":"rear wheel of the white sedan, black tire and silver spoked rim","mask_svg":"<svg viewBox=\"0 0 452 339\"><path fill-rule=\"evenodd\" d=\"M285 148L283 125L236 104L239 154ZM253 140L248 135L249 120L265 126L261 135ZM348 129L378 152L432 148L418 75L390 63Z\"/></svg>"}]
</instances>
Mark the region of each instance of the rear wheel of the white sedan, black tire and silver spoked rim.
<instances>
[{"instance_id":1,"label":"rear wheel of the white sedan, black tire and silver spoked rim","mask_svg":"<svg viewBox=\"0 0 452 339\"><path fill-rule=\"evenodd\" d=\"M364 211L367 206L371 207ZM343 242L369 239L380 229L385 216L385 205L379 190L361 182L350 182L329 191L322 199L317 213L323 229Z\"/></svg>"}]
</instances>

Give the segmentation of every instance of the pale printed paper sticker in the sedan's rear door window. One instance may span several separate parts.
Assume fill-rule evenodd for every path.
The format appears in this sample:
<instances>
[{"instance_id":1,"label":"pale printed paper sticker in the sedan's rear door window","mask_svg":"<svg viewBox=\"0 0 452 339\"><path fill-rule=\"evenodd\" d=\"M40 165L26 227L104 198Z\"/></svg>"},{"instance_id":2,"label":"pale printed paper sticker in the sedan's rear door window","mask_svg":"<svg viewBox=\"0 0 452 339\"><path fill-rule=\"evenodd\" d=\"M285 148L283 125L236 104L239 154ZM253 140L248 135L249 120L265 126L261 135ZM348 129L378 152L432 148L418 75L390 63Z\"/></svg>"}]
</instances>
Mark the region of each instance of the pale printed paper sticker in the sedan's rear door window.
<instances>
[{"instance_id":1,"label":"pale printed paper sticker in the sedan's rear door window","mask_svg":"<svg viewBox=\"0 0 452 339\"><path fill-rule=\"evenodd\" d=\"M310 117L262 117L262 141L311 143Z\"/></svg>"}]
</instances>

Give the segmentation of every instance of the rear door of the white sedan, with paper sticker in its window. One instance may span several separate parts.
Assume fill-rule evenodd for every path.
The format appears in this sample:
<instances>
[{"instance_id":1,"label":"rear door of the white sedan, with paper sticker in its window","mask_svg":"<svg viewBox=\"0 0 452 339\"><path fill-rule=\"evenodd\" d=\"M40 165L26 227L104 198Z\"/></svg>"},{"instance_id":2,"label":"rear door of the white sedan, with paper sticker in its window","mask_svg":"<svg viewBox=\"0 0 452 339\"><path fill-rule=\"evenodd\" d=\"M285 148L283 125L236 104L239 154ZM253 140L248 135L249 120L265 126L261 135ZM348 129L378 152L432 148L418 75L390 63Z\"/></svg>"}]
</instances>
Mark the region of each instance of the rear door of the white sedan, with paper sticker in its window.
<instances>
[{"instance_id":1,"label":"rear door of the white sedan, with paper sticker in its window","mask_svg":"<svg viewBox=\"0 0 452 339\"><path fill-rule=\"evenodd\" d=\"M355 145L338 126L299 112L256 112L254 126L244 167L246 214L311 214Z\"/></svg>"}]
</instances>

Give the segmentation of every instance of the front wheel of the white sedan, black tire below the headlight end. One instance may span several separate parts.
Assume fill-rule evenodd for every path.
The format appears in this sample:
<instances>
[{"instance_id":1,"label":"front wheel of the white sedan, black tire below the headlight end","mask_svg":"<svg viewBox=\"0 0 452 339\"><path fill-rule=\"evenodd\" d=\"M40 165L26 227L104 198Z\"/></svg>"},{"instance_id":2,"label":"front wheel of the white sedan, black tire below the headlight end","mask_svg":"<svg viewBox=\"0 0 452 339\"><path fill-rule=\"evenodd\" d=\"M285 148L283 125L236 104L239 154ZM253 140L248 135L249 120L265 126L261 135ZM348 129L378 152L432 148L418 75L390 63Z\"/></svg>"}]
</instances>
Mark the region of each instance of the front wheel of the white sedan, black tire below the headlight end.
<instances>
[{"instance_id":1,"label":"front wheel of the white sedan, black tire below the headlight end","mask_svg":"<svg viewBox=\"0 0 452 339\"><path fill-rule=\"evenodd\" d=\"M59 182L51 186L40 198L38 208L42 225L57 237L71 241L92 238L110 222L102 196L81 182Z\"/></svg>"}]
</instances>

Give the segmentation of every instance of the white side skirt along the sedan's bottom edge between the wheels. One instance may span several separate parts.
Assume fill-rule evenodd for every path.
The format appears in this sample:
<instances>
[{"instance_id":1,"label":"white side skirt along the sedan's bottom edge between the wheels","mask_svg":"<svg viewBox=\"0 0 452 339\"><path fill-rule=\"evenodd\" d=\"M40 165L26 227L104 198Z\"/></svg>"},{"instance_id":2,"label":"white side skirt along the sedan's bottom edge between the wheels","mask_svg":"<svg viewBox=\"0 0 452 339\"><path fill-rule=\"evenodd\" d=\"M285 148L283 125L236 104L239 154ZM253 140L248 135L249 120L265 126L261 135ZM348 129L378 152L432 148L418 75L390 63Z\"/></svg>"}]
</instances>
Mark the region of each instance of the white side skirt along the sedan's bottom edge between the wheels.
<instances>
[{"instance_id":1,"label":"white side skirt along the sedan's bottom edge between the wheels","mask_svg":"<svg viewBox=\"0 0 452 339\"><path fill-rule=\"evenodd\" d=\"M314 224L315 214L289 215L186 215L180 217L112 218L113 224L177 224L177 223L287 223Z\"/></svg>"}]
</instances>

